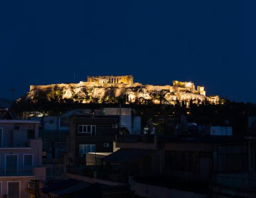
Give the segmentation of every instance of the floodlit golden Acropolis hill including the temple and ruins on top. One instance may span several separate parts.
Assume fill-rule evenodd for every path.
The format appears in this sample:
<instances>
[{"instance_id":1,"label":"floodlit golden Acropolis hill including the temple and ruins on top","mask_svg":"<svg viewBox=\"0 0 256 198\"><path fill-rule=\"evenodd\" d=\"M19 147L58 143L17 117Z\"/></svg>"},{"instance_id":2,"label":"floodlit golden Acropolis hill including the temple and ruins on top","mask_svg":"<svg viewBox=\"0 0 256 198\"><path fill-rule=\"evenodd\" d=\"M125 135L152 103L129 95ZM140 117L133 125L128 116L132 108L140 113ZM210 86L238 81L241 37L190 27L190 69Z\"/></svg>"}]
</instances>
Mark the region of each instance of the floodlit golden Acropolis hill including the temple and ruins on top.
<instances>
[{"instance_id":1,"label":"floodlit golden Acropolis hill including the temple and ruins on top","mask_svg":"<svg viewBox=\"0 0 256 198\"><path fill-rule=\"evenodd\" d=\"M193 82L173 81L172 85L142 85L134 83L133 76L96 76L87 77L87 82L71 84L31 85L26 98L33 99L41 90L49 95L58 91L62 98L72 98L81 103L114 103L117 98L124 98L126 103L152 101L155 104L177 104L177 101L202 104L205 101L217 104L219 96L206 96L204 87Z\"/></svg>"}]
</instances>

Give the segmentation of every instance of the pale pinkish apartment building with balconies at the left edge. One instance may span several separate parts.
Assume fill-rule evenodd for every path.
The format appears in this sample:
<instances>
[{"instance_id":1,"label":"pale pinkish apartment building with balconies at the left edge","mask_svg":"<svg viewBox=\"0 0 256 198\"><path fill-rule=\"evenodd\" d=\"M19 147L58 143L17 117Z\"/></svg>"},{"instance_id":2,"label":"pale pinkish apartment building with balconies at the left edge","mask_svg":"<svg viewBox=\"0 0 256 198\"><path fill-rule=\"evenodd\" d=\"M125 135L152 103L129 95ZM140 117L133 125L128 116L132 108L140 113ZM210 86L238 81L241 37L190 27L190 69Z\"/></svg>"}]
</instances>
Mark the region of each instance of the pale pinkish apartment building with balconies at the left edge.
<instances>
[{"instance_id":1,"label":"pale pinkish apartment building with balconies at the left edge","mask_svg":"<svg viewBox=\"0 0 256 198\"><path fill-rule=\"evenodd\" d=\"M0 119L0 186L3 197L32 197L29 183L45 181L38 121Z\"/></svg>"}]
</instances>

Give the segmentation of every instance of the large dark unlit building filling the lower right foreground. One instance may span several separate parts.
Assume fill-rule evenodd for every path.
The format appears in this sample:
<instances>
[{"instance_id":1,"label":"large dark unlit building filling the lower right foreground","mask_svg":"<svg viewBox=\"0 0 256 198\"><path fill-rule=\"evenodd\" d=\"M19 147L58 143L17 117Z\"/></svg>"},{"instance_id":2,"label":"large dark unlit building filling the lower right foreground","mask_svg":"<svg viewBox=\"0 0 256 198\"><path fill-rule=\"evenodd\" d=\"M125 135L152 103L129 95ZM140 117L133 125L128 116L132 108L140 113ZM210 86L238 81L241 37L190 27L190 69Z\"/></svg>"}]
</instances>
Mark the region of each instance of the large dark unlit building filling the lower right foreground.
<instances>
[{"instance_id":1,"label":"large dark unlit building filling the lower right foreground","mask_svg":"<svg viewBox=\"0 0 256 198\"><path fill-rule=\"evenodd\" d=\"M129 184L139 197L255 197L253 136L117 135L101 166L69 169L70 178Z\"/></svg>"}]
</instances>

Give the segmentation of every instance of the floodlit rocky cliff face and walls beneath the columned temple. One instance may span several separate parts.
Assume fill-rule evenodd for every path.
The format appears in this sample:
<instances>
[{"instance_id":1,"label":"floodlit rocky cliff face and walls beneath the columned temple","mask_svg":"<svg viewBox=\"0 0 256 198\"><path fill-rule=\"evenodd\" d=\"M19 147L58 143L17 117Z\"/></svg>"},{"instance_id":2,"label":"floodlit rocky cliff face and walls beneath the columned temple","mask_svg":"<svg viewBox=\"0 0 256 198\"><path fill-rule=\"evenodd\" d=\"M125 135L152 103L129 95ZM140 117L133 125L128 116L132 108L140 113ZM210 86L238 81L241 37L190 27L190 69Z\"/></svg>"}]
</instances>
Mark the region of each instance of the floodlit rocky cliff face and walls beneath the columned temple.
<instances>
[{"instance_id":1,"label":"floodlit rocky cliff face and walls beneath the columned temple","mask_svg":"<svg viewBox=\"0 0 256 198\"><path fill-rule=\"evenodd\" d=\"M205 101L217 104L218 96L206 97L205 95L185 89L173 90L172 86L154 86L134 83L125 84L96 84L80 82L78 84L53 84L31 86L30 91L23 100L36 102L39 97L51 100L71 99L80 103L154 103L177 104L193 102L203 104Z\"/></svg>"}]
</instances>

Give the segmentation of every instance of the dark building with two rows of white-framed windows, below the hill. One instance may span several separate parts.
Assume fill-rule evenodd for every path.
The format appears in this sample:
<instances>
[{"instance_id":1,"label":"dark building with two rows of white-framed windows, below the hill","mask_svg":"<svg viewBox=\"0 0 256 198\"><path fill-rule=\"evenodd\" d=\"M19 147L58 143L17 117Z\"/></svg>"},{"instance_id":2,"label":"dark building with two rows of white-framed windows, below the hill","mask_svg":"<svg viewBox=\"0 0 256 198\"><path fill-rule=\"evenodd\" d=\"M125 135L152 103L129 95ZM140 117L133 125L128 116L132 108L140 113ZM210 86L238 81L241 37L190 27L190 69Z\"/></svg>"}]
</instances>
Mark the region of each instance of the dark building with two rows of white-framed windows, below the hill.
<instances>
[{"instance_id":1,"label":"dark building with two rows of white-framed windows, below the hill","mask_svg":"<svg viewBox=\"0 0 256 198\"><path fill-rule=\"evenodd\" d=\"M67 165L86 164L87 153L112 153L119 134L117 115L72 115L67 139Z\"/></svg>"}]
</instances>

